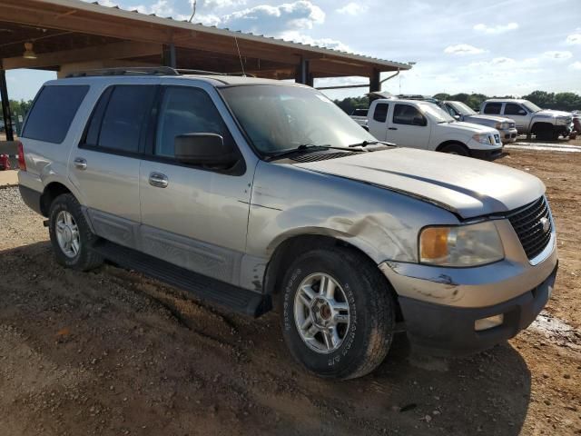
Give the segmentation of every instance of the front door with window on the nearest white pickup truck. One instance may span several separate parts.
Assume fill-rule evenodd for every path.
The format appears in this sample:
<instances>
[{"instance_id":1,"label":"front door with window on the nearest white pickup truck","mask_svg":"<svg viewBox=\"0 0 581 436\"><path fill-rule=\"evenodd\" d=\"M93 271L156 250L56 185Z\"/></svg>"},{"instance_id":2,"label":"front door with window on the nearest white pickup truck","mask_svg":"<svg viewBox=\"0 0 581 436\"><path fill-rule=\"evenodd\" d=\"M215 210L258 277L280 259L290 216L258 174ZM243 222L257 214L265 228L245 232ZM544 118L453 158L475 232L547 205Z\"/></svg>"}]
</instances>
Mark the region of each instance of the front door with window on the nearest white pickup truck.
<instances>
[{"instance_id":1,"label":"front door with window on the nearest white pickup truck","mask_svg":"<svg viewBox=\"0 0 581 436\"><path fill-rule=\"evenodd\" d=\"M412 104L394 104L389 116L386 140L400 147L428 149L428 118Z\"/></svg>"}]
</instances>

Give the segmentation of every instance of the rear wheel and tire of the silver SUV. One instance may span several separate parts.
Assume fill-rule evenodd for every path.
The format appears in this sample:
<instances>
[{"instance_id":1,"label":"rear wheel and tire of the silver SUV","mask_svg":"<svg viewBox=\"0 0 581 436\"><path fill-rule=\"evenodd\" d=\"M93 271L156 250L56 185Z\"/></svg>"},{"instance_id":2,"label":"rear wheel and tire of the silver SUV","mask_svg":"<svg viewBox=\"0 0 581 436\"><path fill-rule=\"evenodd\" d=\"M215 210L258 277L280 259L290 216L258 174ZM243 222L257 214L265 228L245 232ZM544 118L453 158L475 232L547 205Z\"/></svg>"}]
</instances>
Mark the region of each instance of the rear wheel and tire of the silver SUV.
<instances>
[{"instance_id":1,"label":"rear wheel and tire of the silver SUV","mask_svg":"<svg viewBox=\"0 0 581 436\"><path fill-rule=\"evenodd\" d=\"M59 231L57 228L62 230ZM73 194L59 195L51 203L48 232L56 262L64 267L89 271L103 263L103 257L90 250L98 238L91 232L81 210L81 204ZM76 249L72 241L77 242Z\"/></svg>"}]
</instances>

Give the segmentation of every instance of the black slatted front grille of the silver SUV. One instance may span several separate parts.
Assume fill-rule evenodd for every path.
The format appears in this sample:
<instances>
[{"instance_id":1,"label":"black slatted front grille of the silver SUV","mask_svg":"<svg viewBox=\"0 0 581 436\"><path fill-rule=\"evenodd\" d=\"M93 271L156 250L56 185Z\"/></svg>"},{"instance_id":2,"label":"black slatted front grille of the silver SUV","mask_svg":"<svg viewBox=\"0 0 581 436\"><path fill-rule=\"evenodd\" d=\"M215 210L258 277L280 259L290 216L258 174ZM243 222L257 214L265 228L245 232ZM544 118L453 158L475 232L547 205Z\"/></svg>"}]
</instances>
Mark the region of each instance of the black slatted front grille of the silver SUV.
<instances>
[{"instance_id":1,"label":"black slatted front grille of the silver SUV","mask_svg":"<svg viewBox=\"0 0 581 436\"><path fill-rule=\"evenodd\" d=\"M537 257L547 247L551 239L553 223L545 197L517 209L508 214L507 218L515 229L529 260ZM548 220L546 228L543 225L545 222L543 218Z\"/></svg>"}]
</instances>

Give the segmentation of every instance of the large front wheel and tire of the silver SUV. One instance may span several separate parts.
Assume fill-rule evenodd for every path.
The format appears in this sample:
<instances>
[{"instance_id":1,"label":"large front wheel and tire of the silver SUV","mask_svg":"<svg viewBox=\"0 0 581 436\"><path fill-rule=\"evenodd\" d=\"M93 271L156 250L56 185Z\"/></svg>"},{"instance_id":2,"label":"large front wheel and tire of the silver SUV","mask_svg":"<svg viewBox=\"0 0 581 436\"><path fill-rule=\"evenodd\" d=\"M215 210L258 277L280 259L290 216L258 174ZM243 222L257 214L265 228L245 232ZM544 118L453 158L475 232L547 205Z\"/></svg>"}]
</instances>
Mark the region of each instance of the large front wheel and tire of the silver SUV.
<instances>
[{"instance_id":1,"label":"large front wheel and tire of the silver SUV","mask_svg":"<svg viewBox=\"0 0 581 436\"><path fill-rule=\"evenodd\" d=\"M322 277L335 282L333 307L342 307L340 311L325 310L318 293ZM383 362L393 339L396 303L389 282L369 259L350 249L313 250L292 263L283 283L282 334L292 356L308 371L323 378L354 379ZM310 306L301 298L308 296L301 287L317 291ZM314 332L317 323L332 323L337 314L342 316L333 328L337 336L330 334L325 341L323 332ZM303 339L301 323L309 339Z\"/></svg>"}]
</instances>

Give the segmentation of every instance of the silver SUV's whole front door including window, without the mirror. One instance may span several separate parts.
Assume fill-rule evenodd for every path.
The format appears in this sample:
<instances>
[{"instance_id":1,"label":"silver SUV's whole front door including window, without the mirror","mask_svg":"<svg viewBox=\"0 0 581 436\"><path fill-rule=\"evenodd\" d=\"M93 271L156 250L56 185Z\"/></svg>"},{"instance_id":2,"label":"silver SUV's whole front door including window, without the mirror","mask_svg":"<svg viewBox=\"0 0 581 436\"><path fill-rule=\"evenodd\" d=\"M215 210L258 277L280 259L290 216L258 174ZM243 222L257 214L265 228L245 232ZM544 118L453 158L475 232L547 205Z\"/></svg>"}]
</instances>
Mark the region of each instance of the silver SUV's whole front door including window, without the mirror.
<instances>
[{"instance_id":1,"label":"silver SUV's whole front door including window, without the mirror","mask_svg":"<svg viewBox=\"0 0 581 436\"><path fill-rule=\"evenodd\" d=\"M181 134L221 134L228 127L204 90L162 86L149 157L141 163L142 250L167 262L236 283L246 246L253 169L241 160L229 170L174 160ZM235 144L234 144L235 147Z\"/></svg>"}]
</instances>

